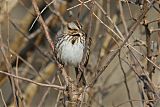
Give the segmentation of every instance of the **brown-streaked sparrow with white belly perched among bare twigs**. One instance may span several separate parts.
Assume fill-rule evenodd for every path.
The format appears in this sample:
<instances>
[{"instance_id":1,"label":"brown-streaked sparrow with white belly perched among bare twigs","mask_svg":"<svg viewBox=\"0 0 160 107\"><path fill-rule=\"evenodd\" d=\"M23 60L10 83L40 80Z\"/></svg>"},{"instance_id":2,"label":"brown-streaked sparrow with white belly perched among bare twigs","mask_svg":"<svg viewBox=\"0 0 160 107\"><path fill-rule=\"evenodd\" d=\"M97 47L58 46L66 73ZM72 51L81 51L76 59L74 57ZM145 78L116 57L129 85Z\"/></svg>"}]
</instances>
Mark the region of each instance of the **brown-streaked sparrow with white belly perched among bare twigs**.
<instances>
[{"instance_id":1,"label":"brown-streaked sparrow with white belly perched among bare twigs","mask_svg":"<svg viewBox=\"0 0 160 107\"><path fill-rule=\"evenodd\" d=\"M64 25L55 38L55 56L57 60L62 65L74 66L76 75L80 72L78 70L79 64L83 63L86 66L88 63L90 44L86 46L86 39L87 35L78 21ZM85 58L83 58L85 47L87 47L87 51ZM82 59L84 59L83 62ZM85 82L84 75L81 76L81 79Z\"/></svg>"}]
</instances>

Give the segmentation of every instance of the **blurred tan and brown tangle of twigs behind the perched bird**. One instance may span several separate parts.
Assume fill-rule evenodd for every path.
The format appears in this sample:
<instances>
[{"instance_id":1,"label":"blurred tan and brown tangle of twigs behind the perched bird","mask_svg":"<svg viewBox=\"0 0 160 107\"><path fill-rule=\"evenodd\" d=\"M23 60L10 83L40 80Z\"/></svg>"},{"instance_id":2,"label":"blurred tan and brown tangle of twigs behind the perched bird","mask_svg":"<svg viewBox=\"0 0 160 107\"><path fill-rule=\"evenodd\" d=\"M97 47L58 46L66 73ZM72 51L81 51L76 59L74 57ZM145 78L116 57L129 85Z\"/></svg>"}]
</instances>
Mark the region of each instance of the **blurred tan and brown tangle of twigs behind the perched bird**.
<instances>
[{"instance_id":1,"label":"blurred tan and brown tangle of twigs behind the perched bird","mask_svg":"<svg viewBox=\"0 0 160 107\"><path fill-rule=\"evenodd\" d=\"M160 107L158 0L37 0L36 3L53 41L64 22L78 20L86 33L91 29L87 82L107 66L88 92L84 107ZM64 91L29 82L64 85L36 18L32 0L0 0L1 107L64 106ZM115 58L111 58L117 50ZM73 68L65 69L75 79Z\"/></svg>"}]
</instances>

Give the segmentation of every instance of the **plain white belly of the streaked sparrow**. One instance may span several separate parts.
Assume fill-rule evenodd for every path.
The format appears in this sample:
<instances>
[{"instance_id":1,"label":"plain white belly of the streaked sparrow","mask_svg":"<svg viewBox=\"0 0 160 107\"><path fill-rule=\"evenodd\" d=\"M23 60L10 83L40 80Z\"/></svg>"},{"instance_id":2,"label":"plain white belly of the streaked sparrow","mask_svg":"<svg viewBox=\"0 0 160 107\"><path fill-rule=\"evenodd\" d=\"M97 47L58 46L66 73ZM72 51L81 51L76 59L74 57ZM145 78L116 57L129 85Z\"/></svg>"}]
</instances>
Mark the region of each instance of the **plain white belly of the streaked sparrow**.
<instances>
[{"instance_id":1,"label":"plain white belly of the streaked sparrow","mask_svg":"<svg viewBox=\"0 0 160 107\"><path fill-rule=\"evenodd\" d=\"M82 43L72 44L64 42L61 45L61 60L65 65L78 66L83 57L84 45Z\"/></svg>"}]
</instances>

